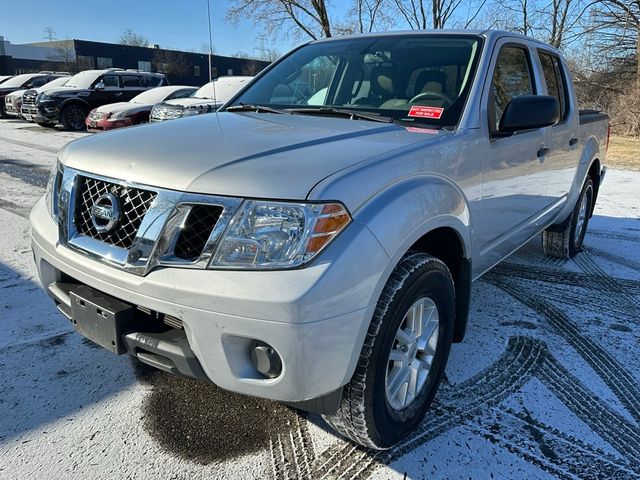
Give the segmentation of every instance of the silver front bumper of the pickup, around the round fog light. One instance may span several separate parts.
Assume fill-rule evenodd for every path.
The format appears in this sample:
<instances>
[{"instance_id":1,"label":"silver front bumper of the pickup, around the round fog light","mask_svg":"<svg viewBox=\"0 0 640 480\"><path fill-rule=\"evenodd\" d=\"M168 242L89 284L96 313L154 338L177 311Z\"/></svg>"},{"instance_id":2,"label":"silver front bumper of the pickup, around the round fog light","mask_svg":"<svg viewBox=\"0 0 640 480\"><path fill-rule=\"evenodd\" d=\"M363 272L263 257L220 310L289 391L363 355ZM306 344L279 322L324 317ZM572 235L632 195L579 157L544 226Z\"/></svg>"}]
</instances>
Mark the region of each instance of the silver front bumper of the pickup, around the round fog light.
<instances>
[{"instance_id":1,"label":"silver front bumper of the pickup, around the round fog light","mask_svg":"<svg viewBox=\"0 0 640 480\"><path fill-rule=\"evenodd\" d=\"M283 402L322 397L356 366L389 258L353 222L313 265L287 271L157 268L141 277L58 244L41 200L31 212L32 248L43 286L71 277L116 299L182 321L206 377L238 393ZM262 377L249 345L266 342L282 373Z\"/></svg>"}]
</instances>

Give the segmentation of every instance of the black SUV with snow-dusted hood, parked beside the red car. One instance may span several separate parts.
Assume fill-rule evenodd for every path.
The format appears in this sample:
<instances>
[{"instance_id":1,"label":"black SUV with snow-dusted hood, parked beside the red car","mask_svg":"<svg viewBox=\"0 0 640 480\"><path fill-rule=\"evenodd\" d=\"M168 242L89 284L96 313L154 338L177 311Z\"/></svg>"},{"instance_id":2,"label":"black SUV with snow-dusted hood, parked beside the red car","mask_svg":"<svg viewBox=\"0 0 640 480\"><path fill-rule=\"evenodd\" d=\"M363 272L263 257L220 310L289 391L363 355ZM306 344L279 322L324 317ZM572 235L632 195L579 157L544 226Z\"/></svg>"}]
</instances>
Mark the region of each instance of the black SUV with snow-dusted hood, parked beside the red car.
<instances>
[{"instance_id":1,"label":"black SUV with snow-dusted hood, parked beside the red car","mask_svg":"<svg viewBox=\"0 0 640 480\"><path fill-rule=\"evenodd\" d=\"M167 85L167 79L161 73L121 68L85 70L70 78L63 88L40 95L34 120L42 126L61 123L67 130L84 130L92 109L128 102L139 93L163 85Z\"/></svg>"}]
</instances>

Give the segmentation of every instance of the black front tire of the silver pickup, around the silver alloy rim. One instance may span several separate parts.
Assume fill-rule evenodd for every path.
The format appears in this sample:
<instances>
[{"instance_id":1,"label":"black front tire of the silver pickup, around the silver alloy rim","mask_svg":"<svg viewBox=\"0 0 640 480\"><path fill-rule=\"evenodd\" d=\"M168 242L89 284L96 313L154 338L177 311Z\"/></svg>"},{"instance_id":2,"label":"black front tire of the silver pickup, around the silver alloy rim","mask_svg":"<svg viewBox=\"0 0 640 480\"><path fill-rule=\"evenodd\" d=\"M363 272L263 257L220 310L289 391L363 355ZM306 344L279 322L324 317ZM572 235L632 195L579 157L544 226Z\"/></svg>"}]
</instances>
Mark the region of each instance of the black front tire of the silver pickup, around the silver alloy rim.
<instances>
[{"instance_id":1,"label":"black front tire of the silver pickup, around the silver alloy rim","mask_svg":"<svg viewBox=\"0 0 640 480\"><path fill-rule=\"evenodd\" d=\"M453 339L455 289L447 266L424 253L410 252L397 265L378 300L351 381L338 411L324 419L339 433L365 447L386 449L409 435L431 405L447 364ZM387 395L389 355L408 309L427 297L437 307L435 354L425 383L408 406L393 408Z\"/></svg>"}]
</instances>

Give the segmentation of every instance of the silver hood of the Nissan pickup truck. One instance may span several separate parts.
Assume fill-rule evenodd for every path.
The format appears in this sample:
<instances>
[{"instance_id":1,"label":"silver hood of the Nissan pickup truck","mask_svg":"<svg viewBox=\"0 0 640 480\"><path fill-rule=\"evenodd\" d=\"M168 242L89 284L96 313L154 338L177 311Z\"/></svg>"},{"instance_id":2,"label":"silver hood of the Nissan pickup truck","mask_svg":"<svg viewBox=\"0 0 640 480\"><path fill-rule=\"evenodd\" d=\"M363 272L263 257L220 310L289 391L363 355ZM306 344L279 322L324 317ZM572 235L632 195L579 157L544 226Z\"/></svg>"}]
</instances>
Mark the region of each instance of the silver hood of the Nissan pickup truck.
<instances>
[{"instance_id":1,"label":"silver hood of the Nissan pickup truck","mask_svg":"<svg viewBox=\"0 0 640 480\"><path fill-rule=\"evenodd\" d=\"M229 113L131 127L69 143L63 164L155 187L302 200L368 158L449 134L364 120Z\"/></svg>"}]
</instances>

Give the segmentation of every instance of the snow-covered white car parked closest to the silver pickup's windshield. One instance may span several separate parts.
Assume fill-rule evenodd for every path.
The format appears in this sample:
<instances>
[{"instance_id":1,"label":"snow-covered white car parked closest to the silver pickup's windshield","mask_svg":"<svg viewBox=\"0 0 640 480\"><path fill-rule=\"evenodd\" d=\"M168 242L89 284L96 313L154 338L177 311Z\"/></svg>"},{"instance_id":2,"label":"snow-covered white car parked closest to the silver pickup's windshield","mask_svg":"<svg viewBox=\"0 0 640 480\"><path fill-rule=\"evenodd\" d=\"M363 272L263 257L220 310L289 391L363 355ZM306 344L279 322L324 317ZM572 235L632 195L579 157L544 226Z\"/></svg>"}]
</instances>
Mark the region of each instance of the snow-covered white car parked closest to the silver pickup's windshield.
<instances>
[{"instance_id":1,"label":"snow-covered white car parked closest to the silver pickup's windshield","mask_svg":"<svg viewBox=\"0 0 640 480\"><path fill-rule=\"evenodd\" d=\"M191 97L167 100L155 105L151 110L150 121L162 122L176 118L190 117L201 113L214 112L233 97L253 77L220 77L206 83Z\"/></svg>"}]
</instances>

